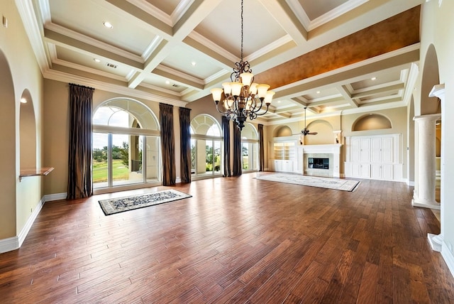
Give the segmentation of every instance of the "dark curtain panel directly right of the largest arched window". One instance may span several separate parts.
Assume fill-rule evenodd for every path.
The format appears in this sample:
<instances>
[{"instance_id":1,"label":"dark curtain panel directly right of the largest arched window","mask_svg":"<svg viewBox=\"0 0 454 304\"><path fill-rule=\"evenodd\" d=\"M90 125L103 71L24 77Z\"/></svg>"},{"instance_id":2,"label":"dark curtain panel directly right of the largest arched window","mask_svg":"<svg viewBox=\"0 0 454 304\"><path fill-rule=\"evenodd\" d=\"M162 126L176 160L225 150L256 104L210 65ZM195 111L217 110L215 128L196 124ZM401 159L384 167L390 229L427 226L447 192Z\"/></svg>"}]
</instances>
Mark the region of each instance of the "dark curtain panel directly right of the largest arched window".
<instances>
[{"instance_id":1,"label":"dark curtain panel directly right of the largest arched window","mask_svg":"<svg viewBox=\"0 0 454 304\"><path fill-rule=\"evenodd\" d=\"M175 169L175 134L173 131L173 106L159 104L161 123L162 150L162 185L175 185L177 172Z\"/></svg>"}]
</instances>

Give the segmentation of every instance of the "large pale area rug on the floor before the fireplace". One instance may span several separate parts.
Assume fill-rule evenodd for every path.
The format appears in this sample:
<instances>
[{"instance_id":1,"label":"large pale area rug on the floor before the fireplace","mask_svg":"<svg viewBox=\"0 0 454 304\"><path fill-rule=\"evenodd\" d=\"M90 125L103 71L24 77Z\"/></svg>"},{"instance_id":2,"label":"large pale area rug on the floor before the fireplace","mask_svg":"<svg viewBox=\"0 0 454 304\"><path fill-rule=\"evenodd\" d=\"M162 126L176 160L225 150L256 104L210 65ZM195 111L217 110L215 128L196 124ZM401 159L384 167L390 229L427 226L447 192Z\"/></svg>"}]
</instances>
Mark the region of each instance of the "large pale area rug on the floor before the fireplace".
<instances>
[{"instance_id":1,"label":"large pale area rug on the floor before the fireplace","mask_svg":"<svg viewBox=\"0 0 454 304\"><path fill-rule=\"evenodd\" d=\"M341 180L337 178L319 178L318 176L297 174L263 174L256 177L258 180L270 180L272 182L304 185L334 190L353 191L360 184L359 180Z\"/></svg>"}]
</instances>

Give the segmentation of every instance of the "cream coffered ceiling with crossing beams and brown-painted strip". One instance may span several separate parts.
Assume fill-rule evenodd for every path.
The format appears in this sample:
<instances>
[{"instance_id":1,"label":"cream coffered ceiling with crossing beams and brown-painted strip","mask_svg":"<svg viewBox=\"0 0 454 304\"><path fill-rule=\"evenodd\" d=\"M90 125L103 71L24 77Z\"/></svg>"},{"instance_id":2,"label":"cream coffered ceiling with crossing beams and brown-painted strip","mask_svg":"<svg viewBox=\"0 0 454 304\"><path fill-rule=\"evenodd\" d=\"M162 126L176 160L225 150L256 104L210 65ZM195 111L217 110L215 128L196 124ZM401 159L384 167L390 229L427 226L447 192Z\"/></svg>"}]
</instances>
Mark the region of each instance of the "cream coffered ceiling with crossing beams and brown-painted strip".
<instances>
[{"instance_id":1,"label":"cream coffered ceiling with crossing beams and brown-painted strip","mask_svg":"<svg viewBox=\"0 0 454 304\"><path fill-rule=\"evenodd\" d=\"M276 92L265 123L409 102L423 0L243 1L244 60ZM240 60L240 0L16 4L52 80L184 106Z\"/></svg>"}]
</instances>

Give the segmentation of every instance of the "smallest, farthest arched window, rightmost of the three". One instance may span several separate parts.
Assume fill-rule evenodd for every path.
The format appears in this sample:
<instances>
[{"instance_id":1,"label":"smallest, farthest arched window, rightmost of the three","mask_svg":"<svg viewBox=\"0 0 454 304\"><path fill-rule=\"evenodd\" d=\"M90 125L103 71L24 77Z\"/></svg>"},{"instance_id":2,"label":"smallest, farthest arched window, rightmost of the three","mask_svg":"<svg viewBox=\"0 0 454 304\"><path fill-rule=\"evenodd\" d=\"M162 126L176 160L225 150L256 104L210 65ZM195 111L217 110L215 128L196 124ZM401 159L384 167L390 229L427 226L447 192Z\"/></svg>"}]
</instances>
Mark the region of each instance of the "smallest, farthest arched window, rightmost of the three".
<instances>
[{"instance_id":1,"label":"smallest, farthest arched window, rightmost of the three","mask_svg":"<svg viewBox=\"0 0 454 304\"><path fill-rule=\"evenodd\" d=\"M243 171L258 170L258 132L252 124L245 123L241 131Z\"/></svg>"}]
</instances>

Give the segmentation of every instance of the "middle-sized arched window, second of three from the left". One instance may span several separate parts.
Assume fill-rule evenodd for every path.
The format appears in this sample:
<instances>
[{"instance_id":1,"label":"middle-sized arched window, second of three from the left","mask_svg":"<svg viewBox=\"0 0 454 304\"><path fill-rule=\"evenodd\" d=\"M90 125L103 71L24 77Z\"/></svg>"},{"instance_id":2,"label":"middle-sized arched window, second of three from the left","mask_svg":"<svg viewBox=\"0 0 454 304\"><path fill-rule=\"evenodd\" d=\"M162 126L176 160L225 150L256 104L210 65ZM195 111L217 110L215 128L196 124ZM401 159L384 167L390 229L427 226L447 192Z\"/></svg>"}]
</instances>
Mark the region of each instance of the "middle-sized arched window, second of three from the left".
<instances>
[{"instance_id":1,"label":"middle-sized arched window, second of three from the left","mask_svg":"<svg viewBox=\"0 0 454 304\"><path fill-rule=\"evenodd\" d=\"M212 116L201 114L191 121L191 173L194 178L221 175L221 126Z\"/></svg>"}]
</instances>

